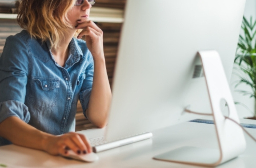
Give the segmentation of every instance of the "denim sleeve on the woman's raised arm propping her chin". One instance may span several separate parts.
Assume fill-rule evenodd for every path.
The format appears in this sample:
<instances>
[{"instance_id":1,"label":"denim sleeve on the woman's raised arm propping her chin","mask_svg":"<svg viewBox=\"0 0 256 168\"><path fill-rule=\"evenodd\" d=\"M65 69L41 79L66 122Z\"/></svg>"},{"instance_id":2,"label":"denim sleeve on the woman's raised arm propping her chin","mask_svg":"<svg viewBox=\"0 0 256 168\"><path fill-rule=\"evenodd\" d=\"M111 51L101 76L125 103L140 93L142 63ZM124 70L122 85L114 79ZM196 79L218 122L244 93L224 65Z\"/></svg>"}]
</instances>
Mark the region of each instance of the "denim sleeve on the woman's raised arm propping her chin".
<instances>
[{"instance_id":1,"label":"denim sleeve on the woman's raised arm propping her chin","mask_svg":"<svg viewBox=\"0 0 256 168\"><path fill-rule=\"evenodd\" d=\"M94 63L93 63L93 58L91 53L89 53L87 61L89 64L85 70L86 77L83 81L82 89L79 93L80 102L81 102L85 117L86 117L85 111L88 108L88 104L91 96L91 88L92 88L93 72L94 72Z\"/></svg>"}]
</instances>

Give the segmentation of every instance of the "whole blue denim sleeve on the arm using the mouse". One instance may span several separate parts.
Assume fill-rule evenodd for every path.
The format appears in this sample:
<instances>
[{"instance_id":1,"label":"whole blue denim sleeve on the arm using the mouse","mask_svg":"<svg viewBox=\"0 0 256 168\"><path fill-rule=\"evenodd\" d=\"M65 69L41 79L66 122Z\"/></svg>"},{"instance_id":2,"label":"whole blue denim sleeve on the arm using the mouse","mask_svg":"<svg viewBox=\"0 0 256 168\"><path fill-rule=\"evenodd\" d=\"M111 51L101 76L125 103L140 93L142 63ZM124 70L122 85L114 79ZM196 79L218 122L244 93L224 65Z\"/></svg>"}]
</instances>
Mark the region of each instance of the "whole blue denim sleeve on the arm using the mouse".
<instances>
[{"instance_id":1,"label":"whole blue denim sleeve on the arm using the mouse","mask_svg":"<svg viewBox=\"0 0 256 168\"><path fill-rule=\"evenodd\" d=\"M0 122L17 116L25 122L30 119L26 97L28 51L25 42L15 36L6 39L0 57Z\"/></svg>"}]
</instances>

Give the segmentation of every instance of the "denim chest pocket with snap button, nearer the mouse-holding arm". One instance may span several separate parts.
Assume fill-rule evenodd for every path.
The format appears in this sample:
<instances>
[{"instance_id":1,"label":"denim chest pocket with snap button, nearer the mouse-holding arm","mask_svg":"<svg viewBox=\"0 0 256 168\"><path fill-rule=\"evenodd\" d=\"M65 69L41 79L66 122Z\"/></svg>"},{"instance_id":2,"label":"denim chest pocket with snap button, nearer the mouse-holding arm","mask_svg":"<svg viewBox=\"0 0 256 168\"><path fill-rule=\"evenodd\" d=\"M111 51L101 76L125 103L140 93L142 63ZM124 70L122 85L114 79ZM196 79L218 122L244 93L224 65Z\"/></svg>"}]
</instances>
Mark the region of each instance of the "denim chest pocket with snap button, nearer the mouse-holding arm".
<instances>
[{"instance_id":1,"label":"denim chest pocket with snap button, nearer the mouse-holding arm","mask_svg":"<svg viewBox=\"0 0 256 168\"><path fill-rule=\"evenodd\" d=\"M39 111L56 106L60 79L32 77L29 102Z\"/></svg>"}]
</instances>

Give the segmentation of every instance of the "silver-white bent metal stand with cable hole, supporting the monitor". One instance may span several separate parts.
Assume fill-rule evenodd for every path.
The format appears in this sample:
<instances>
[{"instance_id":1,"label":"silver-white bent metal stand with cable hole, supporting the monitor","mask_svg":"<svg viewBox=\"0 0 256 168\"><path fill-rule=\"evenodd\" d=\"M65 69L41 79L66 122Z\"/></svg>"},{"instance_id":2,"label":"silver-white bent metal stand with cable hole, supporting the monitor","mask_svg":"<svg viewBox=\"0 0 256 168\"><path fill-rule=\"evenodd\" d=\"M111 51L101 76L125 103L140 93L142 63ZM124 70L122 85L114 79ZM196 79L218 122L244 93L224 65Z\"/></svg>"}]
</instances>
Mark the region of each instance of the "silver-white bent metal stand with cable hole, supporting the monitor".
<instances>
[{"instance_id":1,"label":"silver-white bent metal stand with cable hole, supporting the monitor","mask_svg":"<svg viewBox=\"0 0 256 168\"><path fill-rule=\"evenodd\" d=\"M204 69L219 149L182 147L155 156L154 159L214 167L242 154L246 142L242 128L225 119L221 110L220 102L224 99L229 107L229 117L240 123L219 53L200 51L198 55Z\"/></svg>"}]
</instances>

